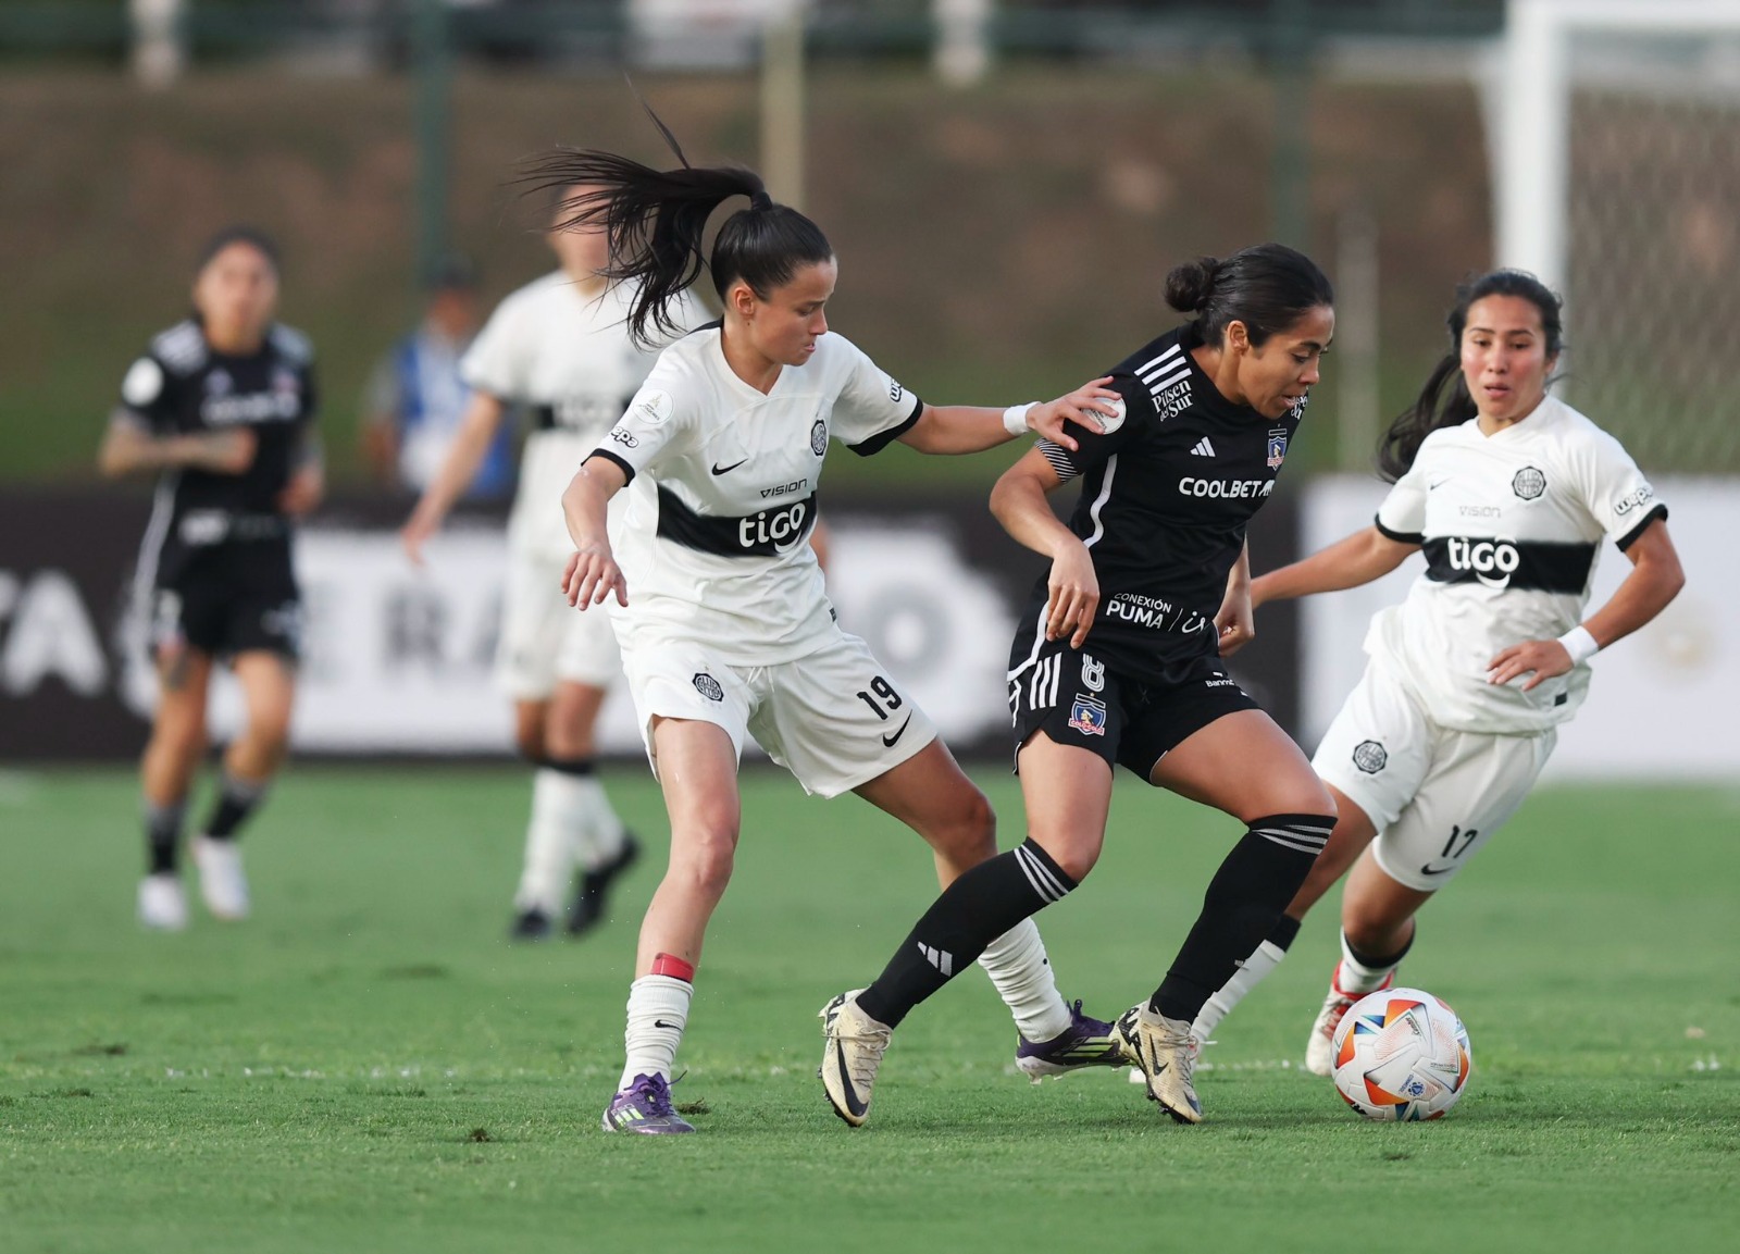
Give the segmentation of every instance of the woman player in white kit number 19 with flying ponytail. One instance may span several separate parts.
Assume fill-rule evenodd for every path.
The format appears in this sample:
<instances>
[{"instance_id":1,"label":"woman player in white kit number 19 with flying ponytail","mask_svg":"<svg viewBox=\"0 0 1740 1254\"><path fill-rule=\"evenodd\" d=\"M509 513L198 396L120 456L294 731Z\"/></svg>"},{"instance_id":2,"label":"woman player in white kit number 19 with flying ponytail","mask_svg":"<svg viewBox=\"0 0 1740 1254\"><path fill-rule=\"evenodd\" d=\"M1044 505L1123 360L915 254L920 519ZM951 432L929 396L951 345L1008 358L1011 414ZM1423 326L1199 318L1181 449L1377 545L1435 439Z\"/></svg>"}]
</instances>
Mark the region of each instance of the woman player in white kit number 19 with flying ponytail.
<instances>
[{"instance_id":1,"label":"woman player in white kit number 19 with flying ponytail","mask_svg":"<svg viewBox=\"0 0 1740 1254\"><path fill-rule=\"evenodd\" d=\"M990 449L1028 428L1065 440L1063 421L1093 423L1110 393L1089 384L1014 414L926 405L828 334L833 249L750 170L684 162L658 172L607 153L560 153L538 176L600 188L574 210L607 224L612 273L644 283L637 332L666 324L703 259L724 303L722 322L659 355L564 497L578 548L567 595L581 607L614 600L672 828L670 868L640 927L628 1057L602 1122L689 1132L670 1104L670 1077L706 922L731 877L746 736L806 791L856 791L919 831L943 884L997 850L990 805L931 720L835 624L804 543L828 442L873 454L900 440L941 454ZM733 197L750 205L720 224L708 257L701 231ZM607 532L606 504L625 487L628 510ZM1020 1026L1023 1070L1117 1064L1110 1024L1058 995L1035 927L1000 937L985 967Z\"/></svg>"}]
</instances>

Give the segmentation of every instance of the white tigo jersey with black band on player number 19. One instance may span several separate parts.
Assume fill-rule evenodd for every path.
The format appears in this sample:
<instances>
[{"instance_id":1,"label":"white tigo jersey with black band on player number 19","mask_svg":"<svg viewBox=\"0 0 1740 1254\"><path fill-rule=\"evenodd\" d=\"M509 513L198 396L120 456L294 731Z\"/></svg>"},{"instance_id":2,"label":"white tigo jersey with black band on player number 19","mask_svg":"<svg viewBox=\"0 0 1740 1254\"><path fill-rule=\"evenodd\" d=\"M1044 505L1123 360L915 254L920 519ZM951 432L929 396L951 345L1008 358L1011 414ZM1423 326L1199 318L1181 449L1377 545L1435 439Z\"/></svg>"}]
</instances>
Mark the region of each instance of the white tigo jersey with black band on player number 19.
<instances>
[{"instance_id":1,"label":"white tigo jersey with black band on player number 19","mask_svg":"<svg viewBox=\"0 0 1740 1254\"><path fill-rule=\"evenodd\" d=\"M868 456L922 409L832 332L767 393L733 372L717 324L666 348L592 454L630 480L611 522L628 581L618 635L705 640L736 666L818 649L833 614L807 541L828 440Z\"/></svg>"}]
</instances>

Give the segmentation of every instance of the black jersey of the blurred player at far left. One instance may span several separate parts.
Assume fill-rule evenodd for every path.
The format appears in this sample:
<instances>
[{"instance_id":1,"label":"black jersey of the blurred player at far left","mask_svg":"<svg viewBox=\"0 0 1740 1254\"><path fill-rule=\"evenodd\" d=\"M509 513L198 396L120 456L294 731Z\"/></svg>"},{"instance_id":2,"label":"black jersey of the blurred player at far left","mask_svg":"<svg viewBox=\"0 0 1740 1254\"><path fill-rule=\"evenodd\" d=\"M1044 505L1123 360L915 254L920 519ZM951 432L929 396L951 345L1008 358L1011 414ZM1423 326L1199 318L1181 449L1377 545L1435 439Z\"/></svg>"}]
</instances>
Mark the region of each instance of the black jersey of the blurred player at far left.
<instances>
[{"instance_id":1,"label":"black jersey of the blurred player at far left","mask_svg":"<svg viewBox=\"0 0 1740 1254\"><path fill-rule=\"evenodd\" d=\"M245 541L285 530L278 494L291 482L315 417L313 350L308 337L271 325L258 353L230 357L205 341L193 318L151 341L122 383L122 417L153 435L193 435L247 426L259 440L240 475L179 470L164 477L160 503L169 534L184 544Z\"/></svg>"}]
</instances>

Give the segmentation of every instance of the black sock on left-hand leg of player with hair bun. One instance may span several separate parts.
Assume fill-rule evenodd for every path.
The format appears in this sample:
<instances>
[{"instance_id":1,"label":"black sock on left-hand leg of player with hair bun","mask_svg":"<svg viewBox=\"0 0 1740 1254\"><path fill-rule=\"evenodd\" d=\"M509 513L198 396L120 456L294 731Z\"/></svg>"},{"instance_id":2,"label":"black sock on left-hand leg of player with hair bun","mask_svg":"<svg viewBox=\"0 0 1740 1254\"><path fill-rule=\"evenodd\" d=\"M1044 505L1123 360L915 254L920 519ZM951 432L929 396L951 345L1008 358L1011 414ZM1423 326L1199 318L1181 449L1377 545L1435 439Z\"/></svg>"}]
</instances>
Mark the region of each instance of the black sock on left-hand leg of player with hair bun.
<instances>
[{"instance_id":1,"label":"black sock on left-hand leg of player with hair bun","mask_svg":"<svg viewBox=\"0 0 1740 1254\"><path fill-rule=\"evenodd\" d=\"M889 1028L966 971L985 946L1075 887L1032 838L948 885L912 929L858 1009Z\"/></svg>"}]
</instances>

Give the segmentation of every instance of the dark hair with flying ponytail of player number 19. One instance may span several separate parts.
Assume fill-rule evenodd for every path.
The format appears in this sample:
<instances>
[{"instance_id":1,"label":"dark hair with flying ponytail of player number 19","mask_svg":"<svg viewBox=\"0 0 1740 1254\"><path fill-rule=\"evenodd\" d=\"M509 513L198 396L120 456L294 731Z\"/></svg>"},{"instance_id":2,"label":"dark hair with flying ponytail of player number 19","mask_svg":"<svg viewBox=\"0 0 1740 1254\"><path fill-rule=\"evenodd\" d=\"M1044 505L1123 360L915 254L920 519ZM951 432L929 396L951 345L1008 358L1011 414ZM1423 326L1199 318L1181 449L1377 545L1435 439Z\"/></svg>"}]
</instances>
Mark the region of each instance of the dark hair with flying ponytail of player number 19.
<instances>
[{"instance_id":1,"label":"dark hair with flying ponytail of player number 19","mask_svg":"<svg viewBox=\"0 0 1740 1254\"><path fill-rule=\"evenodd\" d=\"M776 205L755 170L689 165L670 129L652 110L647 115L682 169L654 170L614 153L562 148L534 158L520 179L527 195L590 188L560 202L569 216L557 230L602 226L609 235L611 264L604 275L640 285L628 315L628 330L639 343L686 330L672 318L670 306L694 285L703 266L713 271L720 299L740 278L767 299L799 268L833 259L821 228L795 209ZM706 219L731 197L748 197L750 207L724 221L708 259Z\"/></svg>"}]
</instances>

